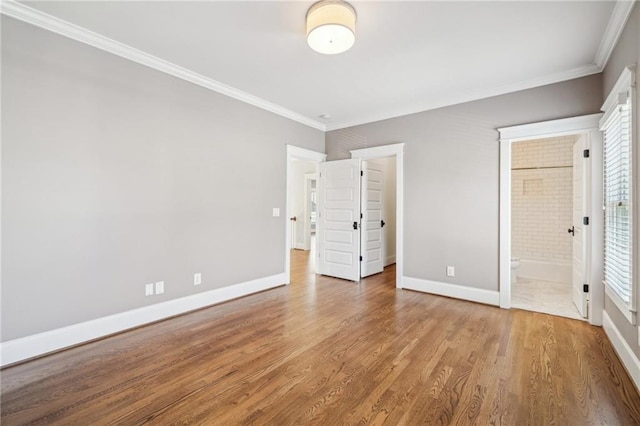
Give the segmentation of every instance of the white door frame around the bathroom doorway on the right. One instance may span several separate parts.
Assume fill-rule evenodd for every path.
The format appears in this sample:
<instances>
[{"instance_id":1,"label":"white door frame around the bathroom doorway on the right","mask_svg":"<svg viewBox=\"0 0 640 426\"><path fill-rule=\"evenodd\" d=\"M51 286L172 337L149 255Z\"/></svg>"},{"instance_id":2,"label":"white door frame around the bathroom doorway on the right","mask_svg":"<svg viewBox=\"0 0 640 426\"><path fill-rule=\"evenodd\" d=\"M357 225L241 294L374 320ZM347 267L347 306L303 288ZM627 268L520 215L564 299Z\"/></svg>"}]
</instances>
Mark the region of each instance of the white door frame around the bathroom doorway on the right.
<instances>
[{"instance_id":1,"label":"white door frame around the bathroom doorway on the right","mask_svg":"<svg viewBox=\"0 0 640 426\"><path fill-rule=\"evenodd\" d=\"M589 322L602 324L604 287L602 284L602 114L563 118L520 126L503 127L500 132L500 307L511 307L511 144L527 139L588 134L591 157L591 270L589 272Z\"/></svg>"}]
</instances>

